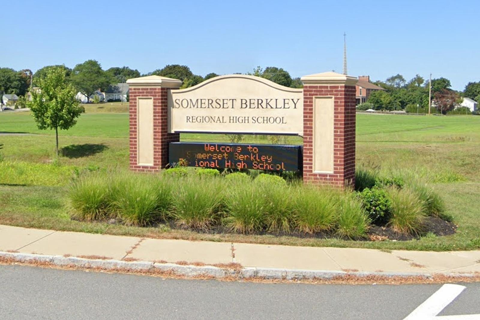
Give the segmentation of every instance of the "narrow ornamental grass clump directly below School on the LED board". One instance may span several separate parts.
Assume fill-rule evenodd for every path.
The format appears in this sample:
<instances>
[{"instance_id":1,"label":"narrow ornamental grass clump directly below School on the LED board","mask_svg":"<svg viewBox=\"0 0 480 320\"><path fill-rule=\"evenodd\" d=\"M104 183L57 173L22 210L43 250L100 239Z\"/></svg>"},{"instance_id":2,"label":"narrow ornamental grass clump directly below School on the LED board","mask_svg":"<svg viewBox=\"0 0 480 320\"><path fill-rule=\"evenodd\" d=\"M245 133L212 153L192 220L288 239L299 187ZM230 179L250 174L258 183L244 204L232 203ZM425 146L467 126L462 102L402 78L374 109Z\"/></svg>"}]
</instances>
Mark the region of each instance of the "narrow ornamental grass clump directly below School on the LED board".
<instances>
[{"instance_id":1,"label":"narrow ornamental grass clump directly below School on the LED board","mask_svg":"<svg viewBox=\"0 0 480 320\"><path fill-rule=\"evenodd\" d=\"M265 190L265 225L270 232L290 232L293 224L292 189Z\"/></svg>"}]
</instances>

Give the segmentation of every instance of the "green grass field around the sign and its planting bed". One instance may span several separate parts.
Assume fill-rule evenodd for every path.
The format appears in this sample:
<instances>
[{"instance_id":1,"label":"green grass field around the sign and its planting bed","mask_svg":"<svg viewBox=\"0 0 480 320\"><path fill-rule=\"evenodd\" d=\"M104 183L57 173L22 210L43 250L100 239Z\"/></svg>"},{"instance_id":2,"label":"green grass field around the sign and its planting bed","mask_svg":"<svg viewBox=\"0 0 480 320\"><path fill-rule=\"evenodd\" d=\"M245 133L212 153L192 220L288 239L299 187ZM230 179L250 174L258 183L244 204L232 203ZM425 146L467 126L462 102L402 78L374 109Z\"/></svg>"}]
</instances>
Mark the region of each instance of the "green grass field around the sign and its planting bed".
<instances>
[{"instance_id":1,"label":"green grass field around the sign and its planting bed","mask_svg":"<svg viewBox=\"0 0 480 320\"><path fill-rule=\"evenodd\" d=\"M118 103L117 103L118 104ZM108 104L99 105L108 107ZM75 127L60 131L56 158L54 131L37 130L28 112L0 113L0 224L147 237L180 237L309 246L377 249L480 248L480 117L357 116L357 165L384 174L409 175L430 184L446 201L458 232L398 242L346 241L274 236L205 235L165 228L136 228L72 221L68 213L72 171L85 168L128 169L128 114L88 106ZM28 135L5 135L27 133ZM182 134L182 141L227 142L222 134ZM245 136L247 143L270 143L265 136ZM281 143L301 144L300 137Z\"/></svg>"}]
</instances>

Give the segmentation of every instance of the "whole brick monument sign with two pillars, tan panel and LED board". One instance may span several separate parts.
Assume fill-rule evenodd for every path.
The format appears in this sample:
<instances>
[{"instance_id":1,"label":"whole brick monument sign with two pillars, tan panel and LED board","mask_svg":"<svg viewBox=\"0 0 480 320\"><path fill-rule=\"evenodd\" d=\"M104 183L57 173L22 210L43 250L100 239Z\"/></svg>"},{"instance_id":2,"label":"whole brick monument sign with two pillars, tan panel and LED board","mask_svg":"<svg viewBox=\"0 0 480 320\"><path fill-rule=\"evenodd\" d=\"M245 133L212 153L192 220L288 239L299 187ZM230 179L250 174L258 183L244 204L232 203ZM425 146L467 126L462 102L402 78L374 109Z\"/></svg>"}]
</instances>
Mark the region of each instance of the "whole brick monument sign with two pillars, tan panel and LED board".
<instances>
[{"instance_id":1,"label":"whole brick monument sign with two pillars, tan panel and LED board","mask_svg":"<svg viewBox=\"0 0 480 320\"><path fill-rule=\"evenodd\" d=\"M352 185L357 79L324 72L301 81L303 89L294 89L235 74L179 89L181 81L176 79L129 79L130 168L157 172L172 163L273 171L296 168L304 183ZM180 132L298 135L303 137L303 148L188 144L180 142Z\"/></svg>"}]
</instances>

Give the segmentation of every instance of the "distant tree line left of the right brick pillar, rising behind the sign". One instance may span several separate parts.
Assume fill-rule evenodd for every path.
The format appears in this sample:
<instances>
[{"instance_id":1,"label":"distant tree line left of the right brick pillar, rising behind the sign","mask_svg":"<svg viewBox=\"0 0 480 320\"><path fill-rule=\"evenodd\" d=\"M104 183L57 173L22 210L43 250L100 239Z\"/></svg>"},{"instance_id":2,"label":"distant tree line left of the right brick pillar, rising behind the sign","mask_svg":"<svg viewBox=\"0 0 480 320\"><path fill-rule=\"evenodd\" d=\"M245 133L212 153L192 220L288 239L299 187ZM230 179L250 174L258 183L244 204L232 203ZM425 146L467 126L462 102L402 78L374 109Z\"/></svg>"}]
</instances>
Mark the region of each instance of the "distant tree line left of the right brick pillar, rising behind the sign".
<instances>
[{"instance_id":1,"label":"distant tree line left of the right brick pillar, rising behind the sign","mask_svg":"<svg viewBox=\"0 0 480 320\"><path fill-rule=\"evenodd\" d=\"M71 83L77 92L82 93L88 99L97 90L105 91L111 84L124 83L128 79L140 76L158 75L179 79L183 82L181 88L188 88L218 75L215 72L208 73L205 76L193 74L188 66L179 64L166 65L162 69L156 69L146 74L141 74L138 70L125 66L103 70L100 63L96 60L86 60L77 64L73 69L65 65L45 66L35 73L32 73L29 69L15 71L12 68L0 68L0 100L4 94L24 96L28 92L29 87L38 86L41 80L45 79L48 71L53 69L63 70L65 72L65 80ZM253 72L247 74L259 76L287 87L301 87L300 78L293 79L282 68L267 67L262 69L257 67Z\"/></svg>"}]
</instances>

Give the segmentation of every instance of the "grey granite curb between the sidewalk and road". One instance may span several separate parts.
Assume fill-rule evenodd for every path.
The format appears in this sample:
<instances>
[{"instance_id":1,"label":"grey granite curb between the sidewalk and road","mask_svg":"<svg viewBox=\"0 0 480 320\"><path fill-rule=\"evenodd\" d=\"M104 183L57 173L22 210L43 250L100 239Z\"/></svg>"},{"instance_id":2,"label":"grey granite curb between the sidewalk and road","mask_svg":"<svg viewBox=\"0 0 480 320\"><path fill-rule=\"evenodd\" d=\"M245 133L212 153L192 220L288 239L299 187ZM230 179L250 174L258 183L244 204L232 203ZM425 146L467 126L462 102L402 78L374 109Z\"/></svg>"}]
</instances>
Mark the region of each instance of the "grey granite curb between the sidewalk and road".
<instances>
[{"instance_id":1,"label":"grey granite curb between the sidewalk and road","mask_svg":"<svg viewBox=\"0 0 480 320\"><path fill-rule=\"evenodd\" d=\"M411 273L411 272L364 272L364 271L332 271L332 270L301 270L301 269L278 269L262 267L242 267L239 269L221 268L211 265L180 265L175 263L161 263L154 261L121 261L85 259L78 257L65 257L58 255L44 255L32 253L18 253L0 251L0 260L19 263L48 263L59 267L76 267L80 269L96 269L103 271L130 271L130 272L163 272L185 277L209 277L209 278L261 278L261 279L334 279L345 276L368 278L372 276L384 278L412 278L421 277L432 279L435 275L449 277L478 277L477 273Z\"/></svg>"}]
</instances>

